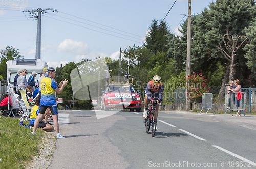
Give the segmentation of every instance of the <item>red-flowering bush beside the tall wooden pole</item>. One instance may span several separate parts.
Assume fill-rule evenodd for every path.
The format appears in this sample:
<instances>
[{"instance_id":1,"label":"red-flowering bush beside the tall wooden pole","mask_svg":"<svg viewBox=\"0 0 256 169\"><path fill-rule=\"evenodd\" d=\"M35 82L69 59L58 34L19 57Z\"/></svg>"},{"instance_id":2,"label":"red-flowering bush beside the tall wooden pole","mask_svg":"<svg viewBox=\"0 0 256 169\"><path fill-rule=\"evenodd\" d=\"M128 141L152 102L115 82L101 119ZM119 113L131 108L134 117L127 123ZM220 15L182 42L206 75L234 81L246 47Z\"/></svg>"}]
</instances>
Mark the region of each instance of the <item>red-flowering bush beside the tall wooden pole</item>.
<instances>
[{"instance_id":1,"label":"red-flowering bush beside the tall wooden pole","mask_svg":"<svg viewBox=\"0 0 256 169\"><path fill-rule=\"evenodd\" d=\"M203 93L210 92L210 89L206 85L207 79L205 79L205 77L202 76L202 73L195 74L195 72L193 72L191 76L188 75L187 78L186 76L184 78L185 81L187 82L186 86L189 98L202 98Z\"/></svg>"}]
</instances>

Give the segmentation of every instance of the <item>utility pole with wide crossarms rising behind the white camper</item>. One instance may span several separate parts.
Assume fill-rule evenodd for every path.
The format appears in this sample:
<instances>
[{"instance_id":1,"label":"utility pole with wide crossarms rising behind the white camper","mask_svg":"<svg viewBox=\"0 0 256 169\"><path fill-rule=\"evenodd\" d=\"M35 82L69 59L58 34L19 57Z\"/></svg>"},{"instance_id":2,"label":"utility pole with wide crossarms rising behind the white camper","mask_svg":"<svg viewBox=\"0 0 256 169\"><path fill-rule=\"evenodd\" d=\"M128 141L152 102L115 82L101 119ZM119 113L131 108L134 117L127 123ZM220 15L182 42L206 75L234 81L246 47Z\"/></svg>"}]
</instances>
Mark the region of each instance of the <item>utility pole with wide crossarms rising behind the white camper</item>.
<instances>
[{"instance_id":1,"label":"utility pole with wide crossarms rising behind the white camper","mask_svg":"<svg viewBox=\"0 0 256 169\"><path fill-rule=\"evenodd\" d=\"M37 19L37 34L36 34L36 49L35 49L35 58L41 58L41 14L47 13L47 10L53 10L52 8L47 9L34 9L34 10L27 10L23 12L29 12L29 18L36 18ZM52 12L57 12L57 10L53 10ZM33 16L33 17L31 17Z\"/></svg>"}]
</instances>

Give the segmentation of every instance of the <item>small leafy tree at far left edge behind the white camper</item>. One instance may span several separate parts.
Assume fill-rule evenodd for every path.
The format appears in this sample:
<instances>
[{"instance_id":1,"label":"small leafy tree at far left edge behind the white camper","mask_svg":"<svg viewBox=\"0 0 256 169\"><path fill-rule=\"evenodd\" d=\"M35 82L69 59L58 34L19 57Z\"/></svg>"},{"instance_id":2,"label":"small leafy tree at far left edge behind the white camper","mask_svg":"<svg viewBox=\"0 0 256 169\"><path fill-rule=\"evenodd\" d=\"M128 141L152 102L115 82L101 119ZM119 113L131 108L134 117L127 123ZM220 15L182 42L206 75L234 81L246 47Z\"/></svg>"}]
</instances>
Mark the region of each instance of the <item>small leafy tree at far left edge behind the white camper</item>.
<instances>
[{"instance_id":1,"label":"small leafy tree at far left edge behind the white camper","mask_svg":"<svg viewBox=\"0 0 256 169\"><path fill-rule=\"evenodd\" d=\"M24 58L22 55L19 55L18 49L13 48L12 46L7 46L5 50L0 51L0 75L6 80L6 62L9 60L16 60L18 58Z\"/></svg>"}]
</instances>

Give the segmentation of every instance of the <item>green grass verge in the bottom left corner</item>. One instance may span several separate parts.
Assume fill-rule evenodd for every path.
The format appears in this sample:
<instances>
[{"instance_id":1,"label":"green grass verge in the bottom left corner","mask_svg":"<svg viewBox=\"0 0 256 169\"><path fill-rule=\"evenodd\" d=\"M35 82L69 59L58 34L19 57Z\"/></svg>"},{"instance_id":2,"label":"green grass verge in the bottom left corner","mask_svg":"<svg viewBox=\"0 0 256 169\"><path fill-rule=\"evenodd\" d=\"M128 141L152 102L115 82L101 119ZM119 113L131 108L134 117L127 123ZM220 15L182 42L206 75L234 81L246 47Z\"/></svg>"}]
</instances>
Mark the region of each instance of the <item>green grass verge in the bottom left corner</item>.
<instances>
[{"instance_id":1,"label":"green grass verge in the bottom left corner","mask_svg":"<svg viewBox=\"0 0 256 169\"><path fill-rule=\"evenodd\" d=\"M41 130L31 133L30 128L19 126L19 119L0 116L0 168L25 168L45 134Z\"/></svg>"}]
</instances>

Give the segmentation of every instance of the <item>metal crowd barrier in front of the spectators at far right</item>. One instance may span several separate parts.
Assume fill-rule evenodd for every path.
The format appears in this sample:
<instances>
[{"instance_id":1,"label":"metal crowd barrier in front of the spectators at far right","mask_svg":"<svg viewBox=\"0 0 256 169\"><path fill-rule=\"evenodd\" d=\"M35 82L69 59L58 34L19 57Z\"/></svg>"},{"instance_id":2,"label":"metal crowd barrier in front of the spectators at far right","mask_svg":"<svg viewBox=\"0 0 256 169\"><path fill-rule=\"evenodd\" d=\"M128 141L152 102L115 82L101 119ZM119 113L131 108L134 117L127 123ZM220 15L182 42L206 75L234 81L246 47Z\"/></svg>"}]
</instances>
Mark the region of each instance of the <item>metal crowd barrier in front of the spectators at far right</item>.
<instances>
[{"instance_id":1,"label":"metal crowd barrier in front of the spectators at far right","mask_svg":"<svg viewBox=\"0 0 256 169\"><path fill-rule=\"evenodd\" d=\"M226 93L226 96L225 96L225 109L226 109L225 115L226 115L228 110L231 112L231 114L232 114L233 110L237 110L237 115L241 111L244 114L245 94L244 94L244 92L241 92L241 99L239 99L239 100L237 99L237 95L238 95L237 92L230 93L230 94ZM233 114L232 114L232 116L233 116ZM244 114L244 116L245 116L245 114Z\"/></svg>"}]
</instances>

